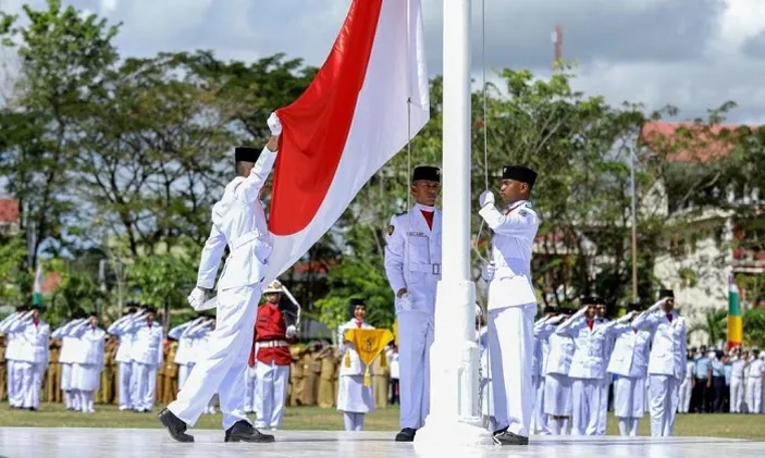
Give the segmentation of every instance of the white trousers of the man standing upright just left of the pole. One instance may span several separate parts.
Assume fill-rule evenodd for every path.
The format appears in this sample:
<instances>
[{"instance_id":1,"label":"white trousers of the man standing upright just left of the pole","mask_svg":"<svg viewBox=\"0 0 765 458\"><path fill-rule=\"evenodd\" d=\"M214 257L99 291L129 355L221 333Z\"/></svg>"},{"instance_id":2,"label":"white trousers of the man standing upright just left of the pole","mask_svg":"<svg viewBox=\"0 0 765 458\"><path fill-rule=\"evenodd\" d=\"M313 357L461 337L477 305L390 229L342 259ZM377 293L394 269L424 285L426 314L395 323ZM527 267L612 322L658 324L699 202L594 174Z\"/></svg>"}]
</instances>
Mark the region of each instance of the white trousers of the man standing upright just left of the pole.
<instances>
[{"instance_id":1,"label":"white trousers of the man standing upright just left of the pole","mask_svg":"<svg viewBox=\"0 0 765 458\"><path fill-rule=\"evenodd\" d=\"M398 313L398 389L400 428L422 428L430 412L430 347L433 317L402 310Z\"/></svg>"}]
</instances>

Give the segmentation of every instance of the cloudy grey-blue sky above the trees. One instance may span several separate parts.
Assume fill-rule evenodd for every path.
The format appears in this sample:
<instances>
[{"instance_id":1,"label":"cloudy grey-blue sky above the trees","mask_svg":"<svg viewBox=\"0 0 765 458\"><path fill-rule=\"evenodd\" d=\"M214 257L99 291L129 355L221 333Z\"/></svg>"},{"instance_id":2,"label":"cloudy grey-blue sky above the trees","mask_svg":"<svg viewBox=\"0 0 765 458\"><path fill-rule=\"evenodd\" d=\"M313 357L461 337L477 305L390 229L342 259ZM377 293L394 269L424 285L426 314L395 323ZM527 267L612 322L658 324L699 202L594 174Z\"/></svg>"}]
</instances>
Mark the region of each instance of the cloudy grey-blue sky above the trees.
<instances>
[{"instance_id":1,"label":"cloudy grey-blue sky above the trees","mask_svg":"<svg viewBox=\"0 0 765 458\"><path fill-rule=\"evenodd\" d=\"M406 1L406 0L391 0ZM63 0L123 22L123 55L211 49L251 60L286 52L320 65L350 0ZM422 0L429 70L441 72L442 2ZM17 12L23 0L0 0ZM27 0L40 5L42 0ZM550 73L551 33L580 63L576 85L610 102L671 103L680 117L735 100L731 122L765 123L763 0L485 0L486 66ZM473 5L473 70L481 74L481 1Z\"/></svg>"}]
</instances>

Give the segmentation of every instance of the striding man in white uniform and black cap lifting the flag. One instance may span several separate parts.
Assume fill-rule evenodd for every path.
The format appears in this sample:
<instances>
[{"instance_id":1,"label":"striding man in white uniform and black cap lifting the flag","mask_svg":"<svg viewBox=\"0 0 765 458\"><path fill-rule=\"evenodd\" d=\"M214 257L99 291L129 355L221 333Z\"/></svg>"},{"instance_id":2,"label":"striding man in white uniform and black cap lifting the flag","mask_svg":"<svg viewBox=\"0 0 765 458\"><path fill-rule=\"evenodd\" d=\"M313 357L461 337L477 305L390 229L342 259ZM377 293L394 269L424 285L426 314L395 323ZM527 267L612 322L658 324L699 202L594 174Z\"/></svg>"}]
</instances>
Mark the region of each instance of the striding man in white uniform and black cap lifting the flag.
<instances>
[{"instance_id":1,"label":"striding man in white uniform and black cap lifting the flag","mask_svg":"<svg viewBox=\"0 0 765 458\"><path fill-rule=\"evenodd\" d=\"M212 208L212 227L201 251L197 286L188 297L195 309L205 308L226 247L230 252L217 285L215 331L177 398L159 413L171 437L178 442L194 442L186 431L196 424L215 393L223 411L225 442L274 441L252 426L243 399L261 284L273 246L260 194L279 150L282 125L275 113L269 116L268 126L271 137L262 151L236 148L237 176Z\"/></svg>"}]
</instances>

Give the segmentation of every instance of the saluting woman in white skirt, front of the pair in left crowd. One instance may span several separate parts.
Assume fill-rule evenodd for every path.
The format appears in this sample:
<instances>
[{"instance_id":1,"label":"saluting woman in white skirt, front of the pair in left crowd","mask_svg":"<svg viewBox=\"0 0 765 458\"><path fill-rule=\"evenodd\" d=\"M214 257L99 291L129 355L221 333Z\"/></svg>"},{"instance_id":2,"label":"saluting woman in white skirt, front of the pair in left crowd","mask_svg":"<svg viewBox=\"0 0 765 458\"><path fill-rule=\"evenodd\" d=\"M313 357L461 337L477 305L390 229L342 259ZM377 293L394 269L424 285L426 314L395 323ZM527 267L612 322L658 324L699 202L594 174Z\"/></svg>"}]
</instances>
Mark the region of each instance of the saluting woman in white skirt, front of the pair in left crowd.
<instances>
[{"instance_id":1,"label":"saluting woman in white skirt, front of the pair in left crowd","mask_svg":"<svg viewBox=\"0 0 765 458\"><path fill-rule=\"evenodd\" d=\"M98 327L98 315L95 313L91 313L86 322L74 327L72 333L79 339L79 355L75 362L77 364L75 386L79 395L79 411L92 413L96 391L101 384L107 333Z\"/></svg>"}]
</instances>

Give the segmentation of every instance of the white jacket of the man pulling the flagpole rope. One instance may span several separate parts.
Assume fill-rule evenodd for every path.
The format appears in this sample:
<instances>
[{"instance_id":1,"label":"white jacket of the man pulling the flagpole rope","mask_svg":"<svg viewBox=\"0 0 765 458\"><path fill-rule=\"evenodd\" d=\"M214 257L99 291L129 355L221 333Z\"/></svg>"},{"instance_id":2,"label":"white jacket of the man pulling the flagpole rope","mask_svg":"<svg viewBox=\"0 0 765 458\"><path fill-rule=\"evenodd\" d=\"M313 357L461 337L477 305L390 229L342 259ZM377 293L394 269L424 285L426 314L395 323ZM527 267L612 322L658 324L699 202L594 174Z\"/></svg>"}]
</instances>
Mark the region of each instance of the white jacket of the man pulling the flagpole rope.
<instances>
[{"instance_id":1,"label":"white jacket of the man pulling the flagpole rope","mask_svg":"<svg viewBox=\"0 0 765 458\"><path fill-rule=\"evenodd\" d=\"M540 221L531 203L521 200L504 214L489 205L478 213L494 231L491 261L495 271L489 283L489 310L536 304L531 278L531 248Z\"/></svg>"}]
</instances>

